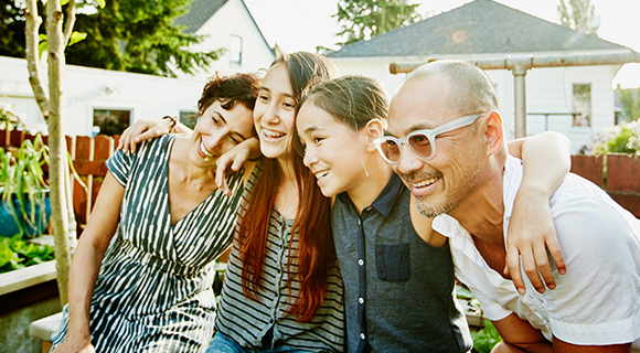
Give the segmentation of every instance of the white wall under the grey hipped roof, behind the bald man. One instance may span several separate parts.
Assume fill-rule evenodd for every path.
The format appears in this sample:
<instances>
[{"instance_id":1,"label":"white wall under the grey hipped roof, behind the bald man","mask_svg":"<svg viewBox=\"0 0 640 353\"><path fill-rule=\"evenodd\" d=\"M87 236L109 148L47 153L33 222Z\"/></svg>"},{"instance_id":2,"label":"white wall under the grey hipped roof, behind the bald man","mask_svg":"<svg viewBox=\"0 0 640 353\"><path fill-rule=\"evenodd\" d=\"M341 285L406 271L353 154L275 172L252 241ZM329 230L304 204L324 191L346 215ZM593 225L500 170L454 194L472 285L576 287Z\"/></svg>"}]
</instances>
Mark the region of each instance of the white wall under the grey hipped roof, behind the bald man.
<instances>
[{"instance_id":1,"label":"white wall under the grey hipped roof, behind the bald man","mask_svg":"<svg viewBox=\"0 0 640 353\"><path fill-rule=\"evenodd\" d=\"M381 81L393 95L405 74L392 75L392 61L383 57L369 60L332 58L341 74L369 75ZM415 60L407 60L415 61ZM572 141L572 152L578 150L589 138L615 124L614 90L611 82L619 66L576 66L533 68L527 71L526 111L570 113L573 111L573 84L591 84L591 126L572 127L572 116L550 116L548 130L564 133ZM506 137L514 138L514 92L513 74L506 69L487 71L495 85L500 108L504 118ZM527 116L529 136L545 130L544 116Z\"/></svg>"}]
</instances>

